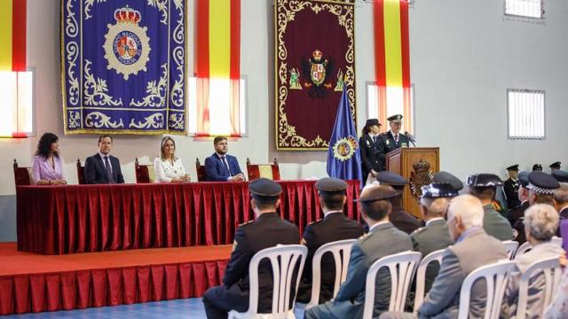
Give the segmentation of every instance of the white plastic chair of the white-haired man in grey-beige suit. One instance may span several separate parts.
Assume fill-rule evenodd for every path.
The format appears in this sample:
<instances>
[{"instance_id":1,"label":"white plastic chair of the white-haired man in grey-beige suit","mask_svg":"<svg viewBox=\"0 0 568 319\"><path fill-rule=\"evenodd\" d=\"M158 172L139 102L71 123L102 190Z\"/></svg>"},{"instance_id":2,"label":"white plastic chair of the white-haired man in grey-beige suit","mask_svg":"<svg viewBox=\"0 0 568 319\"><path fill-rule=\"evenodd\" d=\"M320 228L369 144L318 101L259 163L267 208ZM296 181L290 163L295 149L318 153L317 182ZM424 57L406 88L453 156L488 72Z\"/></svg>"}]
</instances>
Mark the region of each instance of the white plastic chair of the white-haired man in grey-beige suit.
<instances>
[{"instance_id":1,"label":"white plastic chair of the white-haired man in grey-beige suit","mask_svg":"<svg viewBox=\"0 0 568 319\"><path fill-rule=\"evenodd\" d=\"M518 271L515 261L501 261L473 270L461 284L458 319L469 317L471 288L477 280L485 278L487 299L485 300L485 319L498 319L501 302L511 272Z\"/></svg>"}]
</instances>

